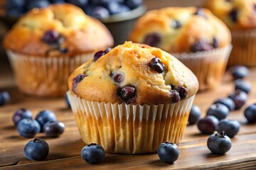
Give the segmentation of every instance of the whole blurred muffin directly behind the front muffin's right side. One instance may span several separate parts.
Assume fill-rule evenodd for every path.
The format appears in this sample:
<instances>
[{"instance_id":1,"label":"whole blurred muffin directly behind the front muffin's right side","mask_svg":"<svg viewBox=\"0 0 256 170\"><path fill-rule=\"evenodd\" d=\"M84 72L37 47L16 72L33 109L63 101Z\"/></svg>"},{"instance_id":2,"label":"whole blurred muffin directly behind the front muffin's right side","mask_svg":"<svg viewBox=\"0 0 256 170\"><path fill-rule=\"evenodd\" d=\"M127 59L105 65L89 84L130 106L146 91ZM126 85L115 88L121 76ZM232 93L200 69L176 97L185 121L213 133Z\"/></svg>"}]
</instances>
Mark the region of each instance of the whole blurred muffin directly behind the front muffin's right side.
<instances>
[{"instance_id":1,"label":"whole blurred muffin directly behind the front muffin's right side","mask_svg":"<svg viewBox=\"0 0 256 170\"><path fill-rule=\"evenodd\" d=\"M196 7L148 11L129 40L170 52L196 74L201 91L218 86L232 48L225 23L208 9Z\"/></svg>"}]
</instances>

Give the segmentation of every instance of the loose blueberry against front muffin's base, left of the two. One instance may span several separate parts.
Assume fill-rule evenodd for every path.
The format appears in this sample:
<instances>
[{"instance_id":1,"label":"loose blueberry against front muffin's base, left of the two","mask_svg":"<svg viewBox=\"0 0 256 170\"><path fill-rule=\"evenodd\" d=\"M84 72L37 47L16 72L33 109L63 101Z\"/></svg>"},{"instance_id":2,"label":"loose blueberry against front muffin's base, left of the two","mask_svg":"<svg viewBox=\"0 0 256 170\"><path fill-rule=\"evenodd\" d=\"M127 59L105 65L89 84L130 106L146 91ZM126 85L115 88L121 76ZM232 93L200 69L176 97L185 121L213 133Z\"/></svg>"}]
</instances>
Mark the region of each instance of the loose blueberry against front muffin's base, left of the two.
<instances>
[{"instance_id":1,"label":"loose blueberry against front muffin's base, left of the two","mask_svg":"<svg viewBox=\"0 0 256 170\"><path fill-rule=\"evenodd\" d=\"M105 150L101 145L92 143L82 148L81 156L89 164L99 164L105 159Z\"/></svg>"}]
</instances>

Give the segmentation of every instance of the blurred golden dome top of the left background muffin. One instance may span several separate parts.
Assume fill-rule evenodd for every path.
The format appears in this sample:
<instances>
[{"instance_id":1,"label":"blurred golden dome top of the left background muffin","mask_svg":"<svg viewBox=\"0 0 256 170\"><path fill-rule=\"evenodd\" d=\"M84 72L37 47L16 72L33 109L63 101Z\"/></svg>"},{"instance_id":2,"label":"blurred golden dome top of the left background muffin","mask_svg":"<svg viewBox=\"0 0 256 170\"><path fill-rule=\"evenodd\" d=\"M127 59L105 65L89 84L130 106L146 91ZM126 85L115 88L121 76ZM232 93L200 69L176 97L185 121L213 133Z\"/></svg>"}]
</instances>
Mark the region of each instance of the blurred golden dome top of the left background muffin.
<instances>
[{"instance_id":1,"label":"blurred golden dome top of the left background muffin","mask_svg":"<svg viewBox=\"0 0 256 170\"><path fill-rule=\"evenodd\" d=\"M33 8L4 38L6 50L41 57L74 57L112 45L109 30L71 4Z\"/></svg>"}]
</instances>

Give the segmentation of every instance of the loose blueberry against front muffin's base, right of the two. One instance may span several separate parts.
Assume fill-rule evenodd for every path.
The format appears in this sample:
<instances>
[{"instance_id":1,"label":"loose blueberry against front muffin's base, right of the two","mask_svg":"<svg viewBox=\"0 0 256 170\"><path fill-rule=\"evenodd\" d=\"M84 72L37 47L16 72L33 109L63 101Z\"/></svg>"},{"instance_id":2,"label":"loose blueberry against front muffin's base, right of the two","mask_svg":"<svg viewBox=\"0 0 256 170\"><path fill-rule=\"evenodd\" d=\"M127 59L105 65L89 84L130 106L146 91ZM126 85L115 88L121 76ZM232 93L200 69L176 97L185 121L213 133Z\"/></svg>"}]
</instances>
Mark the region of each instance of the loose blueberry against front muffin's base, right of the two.
<instances>
[{"instance_id":1,"label":"loose blueberry against front muffin's base, right of the two","mask_svg":"<svg viewBox=\"0 0 256 170\"><path fill-rule=\"evenodd\" d=\"M157 154L162 162L172 164L178 159L179 149L174 143L164 142L157 149Z\"/></svg>"}]
</instances>

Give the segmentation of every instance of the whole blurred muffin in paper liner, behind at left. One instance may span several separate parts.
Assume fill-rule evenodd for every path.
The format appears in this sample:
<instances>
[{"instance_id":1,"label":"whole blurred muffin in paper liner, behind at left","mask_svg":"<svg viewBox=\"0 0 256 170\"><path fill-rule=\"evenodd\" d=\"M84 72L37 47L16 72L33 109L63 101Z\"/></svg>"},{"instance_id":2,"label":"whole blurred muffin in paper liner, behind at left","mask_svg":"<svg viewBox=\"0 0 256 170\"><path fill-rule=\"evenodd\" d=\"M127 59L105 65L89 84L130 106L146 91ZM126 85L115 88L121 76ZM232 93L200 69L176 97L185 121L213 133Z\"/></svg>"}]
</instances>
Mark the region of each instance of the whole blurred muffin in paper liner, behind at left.
<instances>
[{"instance_id":1,"label":"whole blurred muffin in paper liner, behind at left","mask_svg":"<svg viewBox=\"0 0 256 170\"><path fill-rule=\"evenodd\" d=\"M33 8L4 38L18 88L47 97L64 96L69 74L113 43L100 21L71 4Z\"/></svg>"}]
</instances>

